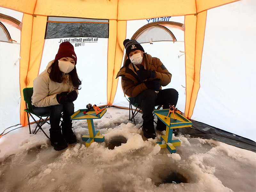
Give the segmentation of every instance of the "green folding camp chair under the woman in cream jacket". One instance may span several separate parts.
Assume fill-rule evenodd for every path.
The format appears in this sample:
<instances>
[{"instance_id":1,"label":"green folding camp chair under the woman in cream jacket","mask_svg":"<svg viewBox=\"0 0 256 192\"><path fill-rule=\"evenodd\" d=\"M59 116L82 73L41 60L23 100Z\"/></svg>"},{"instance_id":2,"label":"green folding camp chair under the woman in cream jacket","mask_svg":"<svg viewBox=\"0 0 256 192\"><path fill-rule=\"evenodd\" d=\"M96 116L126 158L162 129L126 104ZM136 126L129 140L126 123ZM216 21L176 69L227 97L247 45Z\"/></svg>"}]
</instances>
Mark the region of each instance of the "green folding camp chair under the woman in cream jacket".
<instances>
[{"instance_id":1,"label":"green folding camp chair under the woman in cream jacket","mask_svg":"<svg viewBox=\"0 0 256 192\"><path fill-rule=\"evenodd\" d=\"M50 124L49 122L47 122L48 120L48 117L50 116L50 114L45 114L43 116L38 116L36 115L33 110L32 110L32 102L31 102L31 97L33 95L33 87L30 87L30 88L25 88L23 89L23 96L24 96L24 100L26 102L26 109L24 109L24 111L27 112L27 116L28 114L34 119L35 123L36 123L36 128L34 130L34 132L32 134L36 134L39 129L45 134L45 136L50 139L48 137L48 135L44 132L44 130L42 129L42 126L45 124L45 123L48 123ZM39 118L39 121L37 122L36 119L32 116L35 115ZM42 117L46 117L45 119L43 119ZM29 123L29 116L28 116L28 127L29 127L29 133L31 134L31 129L30 129L30 123Z\"/></svg>"}]
</instances>

